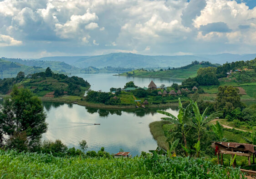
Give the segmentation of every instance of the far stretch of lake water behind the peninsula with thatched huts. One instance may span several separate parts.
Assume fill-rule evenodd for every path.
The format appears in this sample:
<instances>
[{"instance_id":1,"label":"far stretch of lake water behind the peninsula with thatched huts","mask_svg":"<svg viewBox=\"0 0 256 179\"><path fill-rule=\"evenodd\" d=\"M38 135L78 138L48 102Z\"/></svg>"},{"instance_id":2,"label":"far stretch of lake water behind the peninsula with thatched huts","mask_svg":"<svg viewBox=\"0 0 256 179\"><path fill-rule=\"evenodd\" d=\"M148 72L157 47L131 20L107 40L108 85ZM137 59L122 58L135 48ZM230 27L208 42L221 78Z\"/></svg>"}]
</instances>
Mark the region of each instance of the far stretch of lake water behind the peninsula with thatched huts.
<instances>
[{"instance_id":1,"label":"far stretch of lake water behind the peninsula with thatched huts","mask_svg":"<svg viewBox=\"0 0 256 179\"><path fill-rule=\"evenodd\" d=\"M111 87L123 88L125 83L133 81L136 86L148 87L151 80L159 87L161 84L171 86L173 82L181 84L180 80L160 79L151 77L123 77L113 76L118 73L101 73L101 74L72 74L72 76L82 77L91 84L91 89L94 91L102 90L102 92L109 92Z\"/></svg>"}]
</instances>

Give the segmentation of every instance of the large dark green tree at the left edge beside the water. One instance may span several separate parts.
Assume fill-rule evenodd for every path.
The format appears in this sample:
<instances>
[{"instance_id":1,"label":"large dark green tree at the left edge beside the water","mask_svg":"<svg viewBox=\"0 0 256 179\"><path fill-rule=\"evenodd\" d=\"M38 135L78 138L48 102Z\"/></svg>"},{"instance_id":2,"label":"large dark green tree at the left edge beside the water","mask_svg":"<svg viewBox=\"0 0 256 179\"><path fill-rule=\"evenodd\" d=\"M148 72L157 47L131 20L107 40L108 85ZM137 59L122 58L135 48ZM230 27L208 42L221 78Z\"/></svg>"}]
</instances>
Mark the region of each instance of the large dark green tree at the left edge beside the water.
<instances>
[{"instance_id":1,"label":"large dark green tree at the left edge beside the water","mask_svg":"<svg viewBox=\"0 0 256 179\"><path fill-rule=\"evenodd\" d=\"M29 147L33 147L47 131L46 113L38 97L33 97L28 89L14 87L11 98L6 98L0 106L2 131L13 137L26 132Z\"/></svg>"}]
</instances>

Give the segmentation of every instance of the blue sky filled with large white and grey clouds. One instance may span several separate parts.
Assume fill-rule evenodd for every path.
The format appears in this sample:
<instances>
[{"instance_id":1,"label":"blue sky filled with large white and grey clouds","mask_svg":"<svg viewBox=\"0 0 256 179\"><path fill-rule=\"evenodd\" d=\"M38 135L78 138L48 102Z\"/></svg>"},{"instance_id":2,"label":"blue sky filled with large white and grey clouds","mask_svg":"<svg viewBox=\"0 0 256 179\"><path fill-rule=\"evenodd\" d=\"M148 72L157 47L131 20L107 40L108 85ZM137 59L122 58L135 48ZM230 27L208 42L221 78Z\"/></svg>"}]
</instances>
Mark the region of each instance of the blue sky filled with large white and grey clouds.
<instances>
[{"instance_id":1,"label":"blue sky filled with large white and grey clouds","mask_svg":"<svg viewBox=\"0 0 256 179\"><path fill-rule=\"evenodd\" d=\"M0 0L0 57L256 53L256 0Z\"/></svg>"}]
</instances>

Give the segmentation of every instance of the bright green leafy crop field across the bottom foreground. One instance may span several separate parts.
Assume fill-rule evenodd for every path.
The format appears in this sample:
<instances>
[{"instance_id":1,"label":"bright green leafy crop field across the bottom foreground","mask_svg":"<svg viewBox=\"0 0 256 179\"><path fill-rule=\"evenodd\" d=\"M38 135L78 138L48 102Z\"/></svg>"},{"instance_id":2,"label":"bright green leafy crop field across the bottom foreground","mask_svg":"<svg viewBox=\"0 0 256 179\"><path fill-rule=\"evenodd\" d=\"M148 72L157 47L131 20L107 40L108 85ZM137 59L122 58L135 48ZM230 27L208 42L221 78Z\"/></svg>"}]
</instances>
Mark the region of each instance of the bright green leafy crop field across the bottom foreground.
<instances>
[{"instance_id":1,"label":"bright green leafy crop field across the bottom foreground","mask_svg":"<svg viewBox=\"0 0 256 179\"><path fill-rule=\"evenodd\" d=\"M245 178L237 168L193 158L141 155L132 159L54 157L0 150L2 178Z\"/></svg>"}]
</instances>

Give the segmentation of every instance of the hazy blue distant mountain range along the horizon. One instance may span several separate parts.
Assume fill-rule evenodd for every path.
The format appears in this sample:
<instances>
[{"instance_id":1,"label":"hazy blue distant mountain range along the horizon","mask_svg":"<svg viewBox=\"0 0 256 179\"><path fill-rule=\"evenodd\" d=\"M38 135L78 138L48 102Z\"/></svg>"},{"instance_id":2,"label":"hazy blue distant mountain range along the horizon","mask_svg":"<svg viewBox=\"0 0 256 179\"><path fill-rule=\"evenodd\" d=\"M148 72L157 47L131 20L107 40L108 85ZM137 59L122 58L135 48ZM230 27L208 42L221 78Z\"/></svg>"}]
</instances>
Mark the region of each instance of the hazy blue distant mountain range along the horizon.
<instances>
[{"instance_id":1,"label":"hazy blue distant mountain range along the horizon","mask_svg":"<svg viewBox=\"0 0 256 179\"><path fill-rule=\"evenodd\" d=\"M254 54L231 54L222 53L216 55L176 55L176 56L149 56L134 53L109 53L97 56L75 56L75 57L44 57L38 60L65 62L77 68L158 68L158 67L181 67L190 64L192 61L209 61L211 63L223 64L237 60L251 60L256 58Z\"/></svg>"}]
</instances>

